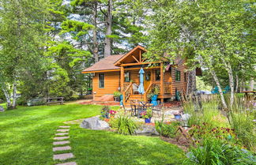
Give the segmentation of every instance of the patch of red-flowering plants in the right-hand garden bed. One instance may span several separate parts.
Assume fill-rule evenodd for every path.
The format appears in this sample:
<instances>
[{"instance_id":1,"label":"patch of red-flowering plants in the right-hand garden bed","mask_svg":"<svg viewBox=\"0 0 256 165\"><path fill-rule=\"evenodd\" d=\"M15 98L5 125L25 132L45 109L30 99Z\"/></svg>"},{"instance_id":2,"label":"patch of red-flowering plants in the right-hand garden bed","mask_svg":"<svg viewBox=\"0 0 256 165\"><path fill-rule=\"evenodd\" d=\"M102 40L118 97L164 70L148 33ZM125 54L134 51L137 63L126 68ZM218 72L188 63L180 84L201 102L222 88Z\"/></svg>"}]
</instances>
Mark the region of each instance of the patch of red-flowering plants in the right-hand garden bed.
<instances>
[{"instance_id":1,"label":"patch of red-flowering plants in the right-hand garden bed","mask_svg":"<svg viewBox=\"0 0 256 165\"><path fill-rule=\"evenodd\" d=\"M234 129L225 127L211 127L208 123L203 122L200 126L192 126L189 131L190 136L194 138L196 143L200 143L205 138L216 138L228 141L232 144L240 145L239 139L236 137Z\"/></svg>"}]
</instances>

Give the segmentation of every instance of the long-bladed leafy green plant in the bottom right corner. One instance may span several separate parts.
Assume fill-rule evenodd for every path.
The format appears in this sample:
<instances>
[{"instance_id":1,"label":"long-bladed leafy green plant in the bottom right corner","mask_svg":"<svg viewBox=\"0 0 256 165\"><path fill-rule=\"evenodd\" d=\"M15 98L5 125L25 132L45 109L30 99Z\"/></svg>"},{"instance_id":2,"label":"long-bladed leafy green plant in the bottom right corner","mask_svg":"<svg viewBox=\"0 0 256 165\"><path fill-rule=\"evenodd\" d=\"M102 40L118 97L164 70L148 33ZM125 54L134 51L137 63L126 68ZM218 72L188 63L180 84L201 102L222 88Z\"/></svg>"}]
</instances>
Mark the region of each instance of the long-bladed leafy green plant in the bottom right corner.
<instances>
[{"instance_id":1,"label":"long-bladed leafy green plant in the bottom right corner","mask_svg":"<svg viewBox=\"0 0 256 165\"><path fill-rule=\"evenodd\" d=\"M211 164L254 164L254 156L236 146L216 139L205 139L202 145L190 148L189 158L184 164L211 165Z\"/></svg>"}]
</instances>

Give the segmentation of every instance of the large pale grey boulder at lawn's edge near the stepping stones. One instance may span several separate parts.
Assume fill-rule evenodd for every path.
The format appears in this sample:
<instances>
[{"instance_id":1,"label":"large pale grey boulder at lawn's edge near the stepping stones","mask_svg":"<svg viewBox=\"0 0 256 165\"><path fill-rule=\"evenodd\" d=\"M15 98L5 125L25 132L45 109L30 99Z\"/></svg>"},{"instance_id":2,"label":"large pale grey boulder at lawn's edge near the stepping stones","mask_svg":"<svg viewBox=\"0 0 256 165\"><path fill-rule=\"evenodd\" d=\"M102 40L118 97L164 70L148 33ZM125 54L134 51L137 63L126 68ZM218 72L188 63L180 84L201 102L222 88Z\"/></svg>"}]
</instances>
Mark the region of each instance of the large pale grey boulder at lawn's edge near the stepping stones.
<instances>
[{"instance_id":1,"label":"large pale grey boulder at lawn's edge near the stepping stones","mask_svg":"<svg viewBox=\"0 0 256 165\"><path fill-rule=\"evenodd\" d=\"M85 129L94 129L94 130L101 130L101 129L109 129L109 125L107 122L100 120L99 117L92 117L86 118L80 125L82 128Z\"/></svg>"}]
</instances>

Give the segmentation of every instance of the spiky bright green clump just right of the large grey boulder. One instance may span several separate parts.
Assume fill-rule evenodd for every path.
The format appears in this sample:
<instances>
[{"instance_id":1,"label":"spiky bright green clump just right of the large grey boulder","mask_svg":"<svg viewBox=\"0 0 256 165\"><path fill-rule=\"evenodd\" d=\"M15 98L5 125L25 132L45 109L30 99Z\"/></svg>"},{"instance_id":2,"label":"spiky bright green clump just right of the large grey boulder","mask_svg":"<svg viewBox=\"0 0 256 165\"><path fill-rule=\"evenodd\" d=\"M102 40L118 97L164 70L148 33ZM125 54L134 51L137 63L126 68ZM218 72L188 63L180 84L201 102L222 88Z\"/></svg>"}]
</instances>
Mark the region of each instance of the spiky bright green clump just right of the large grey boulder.
<instances>
[{"instance_id":1,"label":"spiky bright green clump just right of the large grey boulder","mask_svg":"<svg viewBox=\"0 0 256 165\"><path fill-rule=\"evenodd\" d=\"M114 118L110 122L111 128L117 129L117 132L120 134L131 135L135 133L137 129L137 123L134 122L131 118L127 116L119 116Z\"/></svg>"}]
</instances>

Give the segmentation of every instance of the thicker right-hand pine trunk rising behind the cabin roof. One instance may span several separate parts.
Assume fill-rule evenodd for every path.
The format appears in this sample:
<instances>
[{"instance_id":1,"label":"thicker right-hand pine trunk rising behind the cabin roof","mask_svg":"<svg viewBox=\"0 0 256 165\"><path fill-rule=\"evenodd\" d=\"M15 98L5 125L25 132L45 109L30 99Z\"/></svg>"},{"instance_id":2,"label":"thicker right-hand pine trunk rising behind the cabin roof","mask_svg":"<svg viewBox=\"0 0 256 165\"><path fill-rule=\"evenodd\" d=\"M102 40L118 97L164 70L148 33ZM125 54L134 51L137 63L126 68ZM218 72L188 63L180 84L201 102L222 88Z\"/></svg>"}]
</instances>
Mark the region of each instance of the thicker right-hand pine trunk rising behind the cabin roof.
<instances>
[{"instance_id":1,"label":"thicker right-hand pine trunk rising behind the cabin roof","mask_svg":"<svg viewBox=\"0 0 256 165\"><path fill-rule=\"evenodd\" d=\"M107 6L107 19L106 19L106 36L105 36L105 46L104 46L104 57L111 55L111 36L112 34L112 8L113 2L112 0L108 0Z\"/></svg>"}]
</instances>

